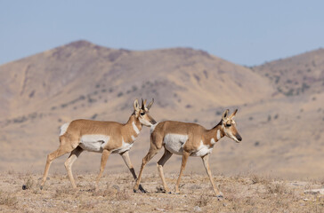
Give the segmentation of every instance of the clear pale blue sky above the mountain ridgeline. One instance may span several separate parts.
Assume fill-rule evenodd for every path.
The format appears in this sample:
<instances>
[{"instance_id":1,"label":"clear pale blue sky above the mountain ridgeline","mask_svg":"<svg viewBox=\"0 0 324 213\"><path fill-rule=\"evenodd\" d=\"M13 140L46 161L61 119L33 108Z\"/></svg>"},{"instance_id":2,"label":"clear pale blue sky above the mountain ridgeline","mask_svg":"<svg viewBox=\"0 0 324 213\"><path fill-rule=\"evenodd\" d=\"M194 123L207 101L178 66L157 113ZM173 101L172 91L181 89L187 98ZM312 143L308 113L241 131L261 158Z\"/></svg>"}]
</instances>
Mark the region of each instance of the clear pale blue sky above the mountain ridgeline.
<instances>
[{"instance_id":1,"label":"clear pale blue sky above the mountain ridgeline","mask_svg":"<svg viewBox=\"0 0 324 213\"><path fill-rule=\"evenodd\" d=\"M0 0L0 65L80 39L253 66L324 47L324 1Z\"/></svg>"}]
</instances>

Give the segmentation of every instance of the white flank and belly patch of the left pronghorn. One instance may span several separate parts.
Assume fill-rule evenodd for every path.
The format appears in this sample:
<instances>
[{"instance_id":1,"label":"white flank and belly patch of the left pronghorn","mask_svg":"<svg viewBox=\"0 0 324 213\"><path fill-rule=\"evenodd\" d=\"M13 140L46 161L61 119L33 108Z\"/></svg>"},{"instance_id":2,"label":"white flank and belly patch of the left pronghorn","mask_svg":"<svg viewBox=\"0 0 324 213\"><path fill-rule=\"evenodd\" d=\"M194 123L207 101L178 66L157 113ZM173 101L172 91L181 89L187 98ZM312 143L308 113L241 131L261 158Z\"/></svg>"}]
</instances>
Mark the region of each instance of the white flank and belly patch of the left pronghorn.
<instances>
[{"instance_id":1,"label":"white flank and belly patch of the left pronghorn","mask_svg":"<svg viewBox=\"0 0 324 213\"><path fill-rule=\"evenodd\" d=\"M89 152L102 153L108 141L109 136L106 135L84 135L80 139L79 146Z\"/></svg>"}]
</instances>

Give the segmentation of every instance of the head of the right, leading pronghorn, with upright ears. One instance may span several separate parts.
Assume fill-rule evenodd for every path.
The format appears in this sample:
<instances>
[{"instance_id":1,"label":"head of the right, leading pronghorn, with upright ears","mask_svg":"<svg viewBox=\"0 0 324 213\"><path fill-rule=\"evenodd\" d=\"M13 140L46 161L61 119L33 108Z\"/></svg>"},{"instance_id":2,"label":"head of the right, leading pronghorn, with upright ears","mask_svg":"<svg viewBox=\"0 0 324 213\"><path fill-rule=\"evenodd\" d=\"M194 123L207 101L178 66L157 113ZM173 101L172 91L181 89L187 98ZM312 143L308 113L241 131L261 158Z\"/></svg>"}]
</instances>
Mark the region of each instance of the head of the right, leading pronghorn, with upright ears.
<instances>
[{"instance_id":1,"label":"head of the right, leading pronghorn, with upright ears","mask_svg":"<svg viewBox=\"0 0 324 213\"><path fill-rule=\"evenodd\" d=\"M223 112L222 129L227 137L239 143L242 140L242 138L240 137L239 132L236 129L236 122L234 121L234 116L238 112L238 109L235 109L234 113L232 113L230 116L228 116L229 111L230 110L226 109Z\"/></svg>"}]
</instances>

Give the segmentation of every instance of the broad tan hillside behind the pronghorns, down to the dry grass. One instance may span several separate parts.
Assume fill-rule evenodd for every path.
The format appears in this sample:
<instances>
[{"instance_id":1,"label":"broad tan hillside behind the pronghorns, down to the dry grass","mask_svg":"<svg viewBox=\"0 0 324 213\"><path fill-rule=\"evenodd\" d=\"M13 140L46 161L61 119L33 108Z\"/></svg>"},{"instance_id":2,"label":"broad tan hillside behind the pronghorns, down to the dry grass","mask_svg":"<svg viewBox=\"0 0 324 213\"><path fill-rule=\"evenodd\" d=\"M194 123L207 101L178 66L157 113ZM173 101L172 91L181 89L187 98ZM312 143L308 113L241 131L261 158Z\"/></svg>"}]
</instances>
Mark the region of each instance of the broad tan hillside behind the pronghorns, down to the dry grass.
<instances>
[{"instance_id":1,"label":"broad tan hillside behind the pronghorns, down to the dry grass","mask_svg":"<svg viewBox=\"0 0 324 213\"><path fill-rule=\"evenodd\" d=\"M64 122L126 122L135 98L154 98L150 113L157 121L198 122L206 128L220 121L225 108L239 108L243 141L224 138L215 146L214 173L321 177L323 93L273 96L273 85L259 73L189 48L126 51L85 41L13 61L0 67L0 170L42 171L46 154L58 147ZM148 149L144 127L131 151L137 171ZM65 172L66 157L53 162L50 176ZM97 172L100 157L84 153L74 170ZM144 172L157 172L157 161L158 156ZM173 156L166 173L178 172L180 162ZM106 172L121 171L124 162L112 154ZM200 159L190 158L186 172L191 171L205 172Z\"/></svg>"}]
</instances>

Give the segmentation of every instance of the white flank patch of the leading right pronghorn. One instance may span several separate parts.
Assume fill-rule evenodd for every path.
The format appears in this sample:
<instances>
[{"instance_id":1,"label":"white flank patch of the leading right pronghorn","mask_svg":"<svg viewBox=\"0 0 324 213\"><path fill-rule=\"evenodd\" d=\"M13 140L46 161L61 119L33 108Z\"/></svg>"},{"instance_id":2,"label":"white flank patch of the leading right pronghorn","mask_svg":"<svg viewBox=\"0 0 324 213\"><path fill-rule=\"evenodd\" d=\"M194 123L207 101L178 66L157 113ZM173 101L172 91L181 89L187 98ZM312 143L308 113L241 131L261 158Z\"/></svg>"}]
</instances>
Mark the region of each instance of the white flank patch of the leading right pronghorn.
<instances>
[{"instance_id":1,"label":"white flank patch of the leading right pronghorn","mask_svg":"<svg viewBox=\"0 0 324 213\"><path fill-rule=\"evenodd\" d=\"M188 140L188 135L166 134L164 145L166 149L173 154L182 154L183 146Z\"/></svg>"}]
</instances>

